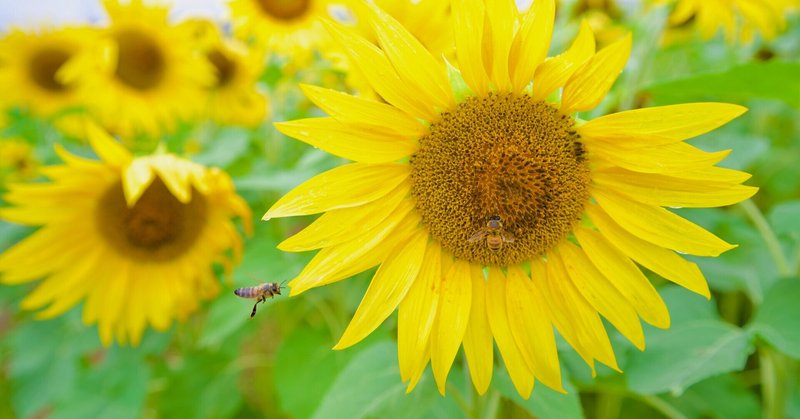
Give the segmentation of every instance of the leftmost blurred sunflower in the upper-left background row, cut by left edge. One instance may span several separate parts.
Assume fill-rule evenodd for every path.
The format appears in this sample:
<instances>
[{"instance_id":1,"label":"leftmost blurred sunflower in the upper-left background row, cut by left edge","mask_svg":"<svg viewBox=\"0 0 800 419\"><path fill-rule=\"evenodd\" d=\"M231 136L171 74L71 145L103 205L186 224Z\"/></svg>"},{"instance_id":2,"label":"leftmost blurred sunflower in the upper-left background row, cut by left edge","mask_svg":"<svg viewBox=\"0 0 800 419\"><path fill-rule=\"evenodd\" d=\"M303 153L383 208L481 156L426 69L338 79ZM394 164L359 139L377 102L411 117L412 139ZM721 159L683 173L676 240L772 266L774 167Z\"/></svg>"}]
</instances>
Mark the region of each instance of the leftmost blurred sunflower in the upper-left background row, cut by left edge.
<instances>
[{"instance_id":1,"label":"leftmost blurred sunflower in the upper-left background row, cut by left edge","mask_svg":"<svg viewBox=\"0 0 800 419\"><path fill-rule=\"evenodd\" d=\"M83 51L91 33L61 28L41 32L12 30L0 40L0 89L5 106L29 109L40 117L82 105L75 83L59 75Z\"/></svg>"}]
</instances>

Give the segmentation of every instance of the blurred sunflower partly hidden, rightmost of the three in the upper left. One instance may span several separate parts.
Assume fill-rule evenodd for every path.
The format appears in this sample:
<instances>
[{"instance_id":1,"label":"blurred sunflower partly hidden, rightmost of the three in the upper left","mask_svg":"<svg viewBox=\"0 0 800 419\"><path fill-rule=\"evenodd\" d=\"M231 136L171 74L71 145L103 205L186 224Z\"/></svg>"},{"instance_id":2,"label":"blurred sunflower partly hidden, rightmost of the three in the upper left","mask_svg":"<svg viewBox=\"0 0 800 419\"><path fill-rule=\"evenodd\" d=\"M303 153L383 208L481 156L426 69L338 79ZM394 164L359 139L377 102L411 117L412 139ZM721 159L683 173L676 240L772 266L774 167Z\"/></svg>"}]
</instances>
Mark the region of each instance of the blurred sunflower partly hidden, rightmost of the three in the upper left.
<instances>
[{"instance_id":1,"label":"blurred sunflower partly hidden, rightmost of the three in the upper left","mask_svg":"<svg viewBox=\"0 0 800 419\"><path fill-rule=\"evenodd\" d=\"M194 19L184 25L192 27L201 52L214 67L207 114L221 124L253 126L263 122L267 97L257 88L264 69L263 54L225 38L213 22Z\"/></svg>"}]
</instances>

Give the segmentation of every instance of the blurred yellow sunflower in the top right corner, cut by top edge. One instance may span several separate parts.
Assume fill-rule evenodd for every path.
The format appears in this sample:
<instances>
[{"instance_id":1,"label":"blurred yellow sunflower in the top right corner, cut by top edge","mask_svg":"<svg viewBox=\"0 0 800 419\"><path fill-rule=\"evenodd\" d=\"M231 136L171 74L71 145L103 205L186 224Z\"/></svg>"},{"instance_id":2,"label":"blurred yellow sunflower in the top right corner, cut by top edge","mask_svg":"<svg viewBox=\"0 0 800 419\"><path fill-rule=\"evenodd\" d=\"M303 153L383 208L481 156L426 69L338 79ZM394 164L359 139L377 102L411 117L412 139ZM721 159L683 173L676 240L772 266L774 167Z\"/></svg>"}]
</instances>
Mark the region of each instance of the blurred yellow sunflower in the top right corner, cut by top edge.
<instances>
[{"instance_id":1,"label":"blurred yellow sunflower in the top right corner, cut by top edge","mask_svg":"<svg viewBox=\"0 0 800 419\"><path fill-rule=\"evenodd\" d=\"M723 29L728 42L737 39L750 42L754 32L766 40L775 38L786 28L786 14L797 6L796 0L656 0L674 4L669 16L672 34L678 37L682 27L697 26L704 39Z\"/></svg>"}]
</instances>

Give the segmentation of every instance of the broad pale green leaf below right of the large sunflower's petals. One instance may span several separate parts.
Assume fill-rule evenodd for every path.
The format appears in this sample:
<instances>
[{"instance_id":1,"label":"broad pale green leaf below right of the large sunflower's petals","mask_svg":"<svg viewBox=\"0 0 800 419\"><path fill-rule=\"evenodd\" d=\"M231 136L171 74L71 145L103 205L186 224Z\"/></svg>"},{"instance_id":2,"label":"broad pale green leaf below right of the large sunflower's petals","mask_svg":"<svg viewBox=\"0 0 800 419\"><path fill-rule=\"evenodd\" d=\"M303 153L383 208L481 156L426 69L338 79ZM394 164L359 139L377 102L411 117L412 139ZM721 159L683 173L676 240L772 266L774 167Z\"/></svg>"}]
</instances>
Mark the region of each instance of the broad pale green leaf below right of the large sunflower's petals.
<instances>
[{"instance_id":1,"label":"broad pale green leaf below right of the large sunflower's petals","mask_svg":"<svg viewBox=\"0 0 800 419\"><path fill-rule=\"evenodd\" d=\"M647 348L630 355L625 372L629 388L640 394L681 394L698 381L741 370L753 351L744 331L717 320L647 331Z\"/></svg>"}]
</instances>

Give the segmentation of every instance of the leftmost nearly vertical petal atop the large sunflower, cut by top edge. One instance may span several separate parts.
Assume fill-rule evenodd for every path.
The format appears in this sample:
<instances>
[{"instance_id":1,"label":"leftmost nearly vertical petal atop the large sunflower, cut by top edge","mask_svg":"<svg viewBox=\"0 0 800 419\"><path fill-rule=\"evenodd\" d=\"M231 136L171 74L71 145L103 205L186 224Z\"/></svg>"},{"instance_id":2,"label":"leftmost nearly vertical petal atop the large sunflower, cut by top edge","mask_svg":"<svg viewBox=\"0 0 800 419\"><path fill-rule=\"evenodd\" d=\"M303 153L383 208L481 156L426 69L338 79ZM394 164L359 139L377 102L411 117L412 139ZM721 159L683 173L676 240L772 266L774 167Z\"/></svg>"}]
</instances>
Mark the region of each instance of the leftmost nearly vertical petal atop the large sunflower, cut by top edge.
<instances>
[{"instance_id":1,"label":"leftmost nearly vertical petal atop the large sunflower, cut by top edge","mask_svg":"<svg viewBox=\"0 0 800 419\"><path fill-rule=\"evenodd\" d=\"M482 1L453 0L453 30L461 76L476 96L489 92L489 76L483 66L483 23L486 8Z\"/></svg>"}]
</instances>

